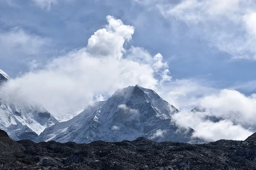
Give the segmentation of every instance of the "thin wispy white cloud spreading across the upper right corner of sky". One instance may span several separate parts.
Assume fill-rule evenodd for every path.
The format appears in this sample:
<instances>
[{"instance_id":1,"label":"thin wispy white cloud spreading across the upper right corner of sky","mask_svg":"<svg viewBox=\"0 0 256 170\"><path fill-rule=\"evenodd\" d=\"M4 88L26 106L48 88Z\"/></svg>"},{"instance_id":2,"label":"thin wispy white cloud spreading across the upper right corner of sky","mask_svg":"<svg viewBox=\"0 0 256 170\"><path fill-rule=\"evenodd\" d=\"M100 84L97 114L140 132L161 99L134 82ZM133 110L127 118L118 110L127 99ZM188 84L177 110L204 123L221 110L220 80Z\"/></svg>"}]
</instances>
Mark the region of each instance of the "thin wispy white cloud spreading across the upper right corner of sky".
<instances>
[{"instance_id":1,"label":"thin wispy white cloud spreading across the upper right corner of sky","mask_svg":"<svg viewBox=\"0 0 256 170\"><path fill-rule=\"evenodd\" d=\"M256 60L256 4L244 0L136 0L149 9L158 9L172 25L187 25L188 38L208 41L233 59Z\"/></svg>"}]
</instances>

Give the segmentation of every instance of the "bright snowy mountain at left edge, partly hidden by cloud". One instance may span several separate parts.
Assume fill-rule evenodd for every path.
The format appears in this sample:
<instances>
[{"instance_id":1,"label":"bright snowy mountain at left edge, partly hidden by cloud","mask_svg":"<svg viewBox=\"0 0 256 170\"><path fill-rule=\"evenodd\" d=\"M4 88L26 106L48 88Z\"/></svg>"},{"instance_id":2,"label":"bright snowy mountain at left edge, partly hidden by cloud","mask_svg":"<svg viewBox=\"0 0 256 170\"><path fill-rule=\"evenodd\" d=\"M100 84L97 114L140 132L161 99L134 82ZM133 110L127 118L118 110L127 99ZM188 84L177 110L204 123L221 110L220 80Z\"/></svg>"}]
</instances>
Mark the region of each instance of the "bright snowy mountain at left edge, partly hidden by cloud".
<instances>
[{"instance_id":1,"label":"bright snowy mountain at left edge, partly hidden by cloud","mask_svg":"<svg viewBox=\"0 0 256 170\"><path fill-rule=\"evenodd\" d=\"M10 77L0 70L0 86ZM39 104L10 102L0 89L0 129L15 140L34 140L46 128L59 123L48 110Z\"/></svg>"}]
</instances>

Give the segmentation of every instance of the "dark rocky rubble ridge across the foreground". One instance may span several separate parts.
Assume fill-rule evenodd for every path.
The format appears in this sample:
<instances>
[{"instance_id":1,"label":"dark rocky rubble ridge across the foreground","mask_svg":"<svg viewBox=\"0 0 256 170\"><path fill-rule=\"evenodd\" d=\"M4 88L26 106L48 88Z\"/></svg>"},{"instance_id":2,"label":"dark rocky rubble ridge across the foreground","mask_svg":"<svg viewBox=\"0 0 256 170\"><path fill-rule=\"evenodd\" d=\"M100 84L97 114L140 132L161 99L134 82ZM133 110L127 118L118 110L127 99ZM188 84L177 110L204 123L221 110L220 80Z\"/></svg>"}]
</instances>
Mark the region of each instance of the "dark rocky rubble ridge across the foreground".
<instances>
[{"instance_id":1,"label":"dark rocky rubble ridge across the foreground","mask_svg":"<svg viewBox=\"0 0 256 170\"><path fill-rule=\"evenodd\" d=\"M135 141L76 144L15 142L0 130L2 170L243 170L256 169L256 133L245 141L191 145Z\"/></svg>"}]
</instances>

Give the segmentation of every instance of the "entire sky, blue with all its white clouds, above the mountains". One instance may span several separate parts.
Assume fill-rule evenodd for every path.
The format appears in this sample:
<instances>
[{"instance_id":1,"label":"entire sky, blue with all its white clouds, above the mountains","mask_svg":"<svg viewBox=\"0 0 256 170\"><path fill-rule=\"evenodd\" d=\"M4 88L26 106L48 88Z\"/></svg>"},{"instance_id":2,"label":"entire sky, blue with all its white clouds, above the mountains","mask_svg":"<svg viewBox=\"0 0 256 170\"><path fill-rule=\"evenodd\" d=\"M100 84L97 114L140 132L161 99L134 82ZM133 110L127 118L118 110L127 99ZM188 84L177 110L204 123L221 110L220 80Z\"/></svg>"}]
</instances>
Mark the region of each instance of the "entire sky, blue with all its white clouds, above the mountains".
<instances>
[{"instance_id":1,"label":"entire sky, blue with all its white clouds, above the mountains","mask_svg":"<svg viewBox=\"0 0 256 170\"><path fill-rule=\"evenodd\" d=\"M72 110L139 84L181 110L177 124L196 136L245 139L256 127L255 7L254 0L0 0L0 69L12 78L4 91ZM223 121L187 115L197 105Z\"/></svg>"}]
</instances>

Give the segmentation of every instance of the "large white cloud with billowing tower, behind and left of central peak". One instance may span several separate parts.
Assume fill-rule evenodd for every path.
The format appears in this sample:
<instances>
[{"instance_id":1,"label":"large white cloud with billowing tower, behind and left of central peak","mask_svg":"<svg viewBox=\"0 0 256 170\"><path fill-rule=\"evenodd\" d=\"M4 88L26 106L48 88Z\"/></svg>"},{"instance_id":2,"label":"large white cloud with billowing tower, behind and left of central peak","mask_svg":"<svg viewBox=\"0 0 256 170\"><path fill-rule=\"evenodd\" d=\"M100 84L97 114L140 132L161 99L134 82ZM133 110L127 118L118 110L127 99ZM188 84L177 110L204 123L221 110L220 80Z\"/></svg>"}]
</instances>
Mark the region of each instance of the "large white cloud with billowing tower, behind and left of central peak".
<instances>
[{"instance_id":1,"label":"large white cloud with billowing tower, behind and left of central peak","mask_svg":"<svg viewBox=\"0 0 256 170\"><path fill-rule=\"evenodd\" d=\"M136 62L126 56L126 51L131 50L124 48L125 42L132 38L134 28L113 16L107 16L107 21L86 47L40 64L39 68L36 62L32 63L30 72L10 80L1 90L10 100L37 102L46 108L67 111L84 107L97 96L97 100L102 99L99 94L112 95L118 88L135 84L157 87L160 79L154 62ZM135 59L140 53L129 55ZM154 61L153 56L148 57Z\"/></svg>"}]
</instances>

